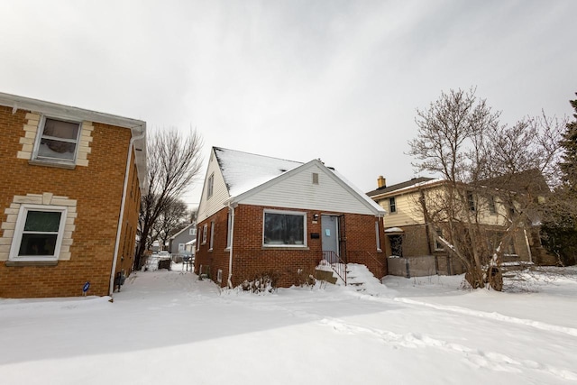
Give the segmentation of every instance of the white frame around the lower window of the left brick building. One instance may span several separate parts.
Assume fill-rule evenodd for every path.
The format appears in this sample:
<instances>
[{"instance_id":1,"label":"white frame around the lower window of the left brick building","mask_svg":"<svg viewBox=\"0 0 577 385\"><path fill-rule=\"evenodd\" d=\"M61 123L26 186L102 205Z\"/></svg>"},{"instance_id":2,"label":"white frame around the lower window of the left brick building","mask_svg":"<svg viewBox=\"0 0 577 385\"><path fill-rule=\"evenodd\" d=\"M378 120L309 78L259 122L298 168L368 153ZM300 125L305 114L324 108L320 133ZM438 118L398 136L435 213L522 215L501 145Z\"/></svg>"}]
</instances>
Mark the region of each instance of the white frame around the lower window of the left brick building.
<instances>
[{"instance_id":1,"label":"white frame around the lower window of the left brick building","mask_svg":"<svg viewBox=\"0 0 577 385\"><path fill-rule=\"evenodd\" d=\"M24 225L26 224L26 217L29 211L53 211L60 212L60 224L58 228L58 235L56 237L56 244L54 246L53 256L29 255L19 256L20 244L22 243L22 235ZM48 205L29 205L23 204L18 211L18 219L14 228L14 238L12 246L10 247L10 254L8 261L58 261L60 256L60 248L62 247L62 240L64 239L64 227L66 226L66 218L68 216L68 208L66 206L48 206Z\"/></svg>"}]
</instances>

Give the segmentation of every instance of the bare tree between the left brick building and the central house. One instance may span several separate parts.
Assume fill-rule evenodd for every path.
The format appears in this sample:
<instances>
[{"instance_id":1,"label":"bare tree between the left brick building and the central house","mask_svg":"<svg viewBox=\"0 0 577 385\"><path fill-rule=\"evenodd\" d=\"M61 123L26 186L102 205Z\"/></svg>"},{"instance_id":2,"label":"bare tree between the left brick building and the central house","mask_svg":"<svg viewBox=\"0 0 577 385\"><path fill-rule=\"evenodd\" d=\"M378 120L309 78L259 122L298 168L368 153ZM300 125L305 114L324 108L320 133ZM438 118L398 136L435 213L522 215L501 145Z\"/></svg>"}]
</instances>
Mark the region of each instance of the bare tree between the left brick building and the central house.
<instances>
[{"instance_id":1,"label":"bare tree between the left brick building and the central house","mask_svg":"<svg viewBox=\"0 0 577 385\"><path fill-rule=\"evenodd\" d=\"M149 193L142 197L139 217L140 241L134 269L142 267L142 255L151 246L151 231L162 213L187 191L201 167L202 138L191 131L183 138L176 128L158 130L148 141Z\"/></svg>"}]
</instances>

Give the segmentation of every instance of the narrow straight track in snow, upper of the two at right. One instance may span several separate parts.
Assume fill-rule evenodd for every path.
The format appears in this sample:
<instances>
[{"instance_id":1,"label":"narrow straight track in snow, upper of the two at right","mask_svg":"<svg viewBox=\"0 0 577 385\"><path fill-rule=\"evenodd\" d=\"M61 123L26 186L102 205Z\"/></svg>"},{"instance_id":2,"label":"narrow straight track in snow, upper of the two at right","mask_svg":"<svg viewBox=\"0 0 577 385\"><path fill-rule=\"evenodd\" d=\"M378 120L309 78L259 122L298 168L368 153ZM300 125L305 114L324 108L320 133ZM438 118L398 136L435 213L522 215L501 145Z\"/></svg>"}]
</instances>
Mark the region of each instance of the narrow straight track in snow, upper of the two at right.
<instances>
[{"instance_id":1,"label":"narrow straight track in snow, upper of the two at right","mask_svg":"<svg viewBox=\"0 0 577 385\"><path fill-rule=\"evenodd\" d=\"M394 298L393 300L396 302L402 302L402 303L405 303L408 305L418 305L418 306L424 306L424 307L431 307L431 308L434 308L436 310L450 311L453 313L463 314L466 316L476 316L476 317L481 317L481 318L489 318L489 319L494 319L497 321L508 322L509 324L527 325L527 326L535 327L536 329L539 329L539 330L545 330L547 332L557 332L557 333L563 333L565 335L571 335L573 337L577 337L577 329L572 328L572 327L551 325L551 324L547 324L545 322L534 321L532 319L517 318L515 316L505 316L505 315L502 315L502 314L497 313L497 312L488 313L485 311L468 309L466 307L455 307L455 306L431 304L428 302L416 301L414 299L409 299L409 298Z\"/></svg>"}]
</instances>

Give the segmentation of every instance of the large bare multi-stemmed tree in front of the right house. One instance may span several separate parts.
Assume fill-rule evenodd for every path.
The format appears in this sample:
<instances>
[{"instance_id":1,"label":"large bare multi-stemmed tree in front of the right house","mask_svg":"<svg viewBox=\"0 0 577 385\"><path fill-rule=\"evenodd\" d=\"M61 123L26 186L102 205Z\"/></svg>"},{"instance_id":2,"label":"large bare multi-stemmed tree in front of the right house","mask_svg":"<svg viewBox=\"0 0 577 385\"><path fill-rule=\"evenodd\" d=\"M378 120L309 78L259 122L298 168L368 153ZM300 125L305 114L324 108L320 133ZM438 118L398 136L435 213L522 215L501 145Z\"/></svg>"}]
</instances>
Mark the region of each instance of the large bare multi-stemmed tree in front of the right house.
<instances>
[{"instance_id":1,"label":"large bare multi-stemmed tree in front of the right house","mask_svg":"<svg viewBox=\"0 0 577 385\"><path fill-rule=\"evenodd\" d=\"M420 194L429 234L463 263L473 288L489 280L500 289L491 281L494 270L484 267L499 267L514 234L535 220L534 194L544 184L538 176L556 159L559 125L545 116L501 125L474 88L442 93L417 110L416 122L417 138L409 142L413 166L444 179L440 188ZM489 212L500 215L499 232L488 231Z\"/></svg>"}]
</instances>

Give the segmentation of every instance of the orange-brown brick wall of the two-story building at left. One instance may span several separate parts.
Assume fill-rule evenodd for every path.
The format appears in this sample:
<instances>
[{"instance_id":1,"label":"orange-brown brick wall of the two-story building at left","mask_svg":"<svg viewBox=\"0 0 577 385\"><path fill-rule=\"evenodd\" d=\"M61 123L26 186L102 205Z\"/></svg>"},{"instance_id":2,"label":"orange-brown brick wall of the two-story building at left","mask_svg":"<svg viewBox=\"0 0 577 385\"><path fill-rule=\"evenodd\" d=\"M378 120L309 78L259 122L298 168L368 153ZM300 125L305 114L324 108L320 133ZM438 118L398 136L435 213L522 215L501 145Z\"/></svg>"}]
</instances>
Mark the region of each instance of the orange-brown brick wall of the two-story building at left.
<instances>
[{"instance_id":1,"label":"orange-brown brick wall of the two-story building at left","mask_svg":"<svg viewBox=\"0 0 577 385\"><path fill-rule=\"evenodd\" d=\"M22 149L19 140L24 135L25 115L26 111L13 114L12 108L0 106L0 221L5 221L5 207L10 206L14 196L44 192L76 199L78 216L70 261L59 261L57 266L6 266L5 261L0 261L0 297L79 296L87 280L91 282L89 295L106 295L130 130L94 123L88 167L65 170L30 165L28 160L16 158L17 151ZM124 261L120 261L119 255L118 265L122 263L123 268L131 265L126 258L133 253L138 196L140 192L127 197L123 234L127 246L123 250L124 242L121 242ZM126 236L132 237L132 241L125 241Z\"/></svg>"}]
</instances>

